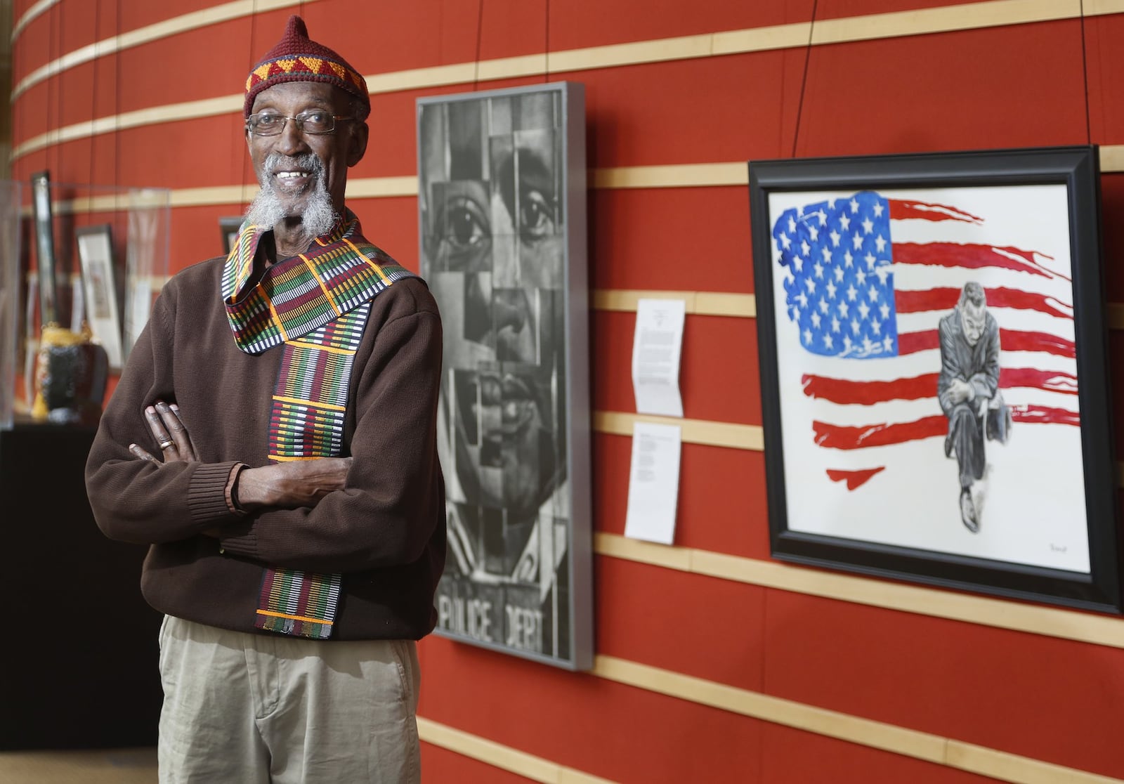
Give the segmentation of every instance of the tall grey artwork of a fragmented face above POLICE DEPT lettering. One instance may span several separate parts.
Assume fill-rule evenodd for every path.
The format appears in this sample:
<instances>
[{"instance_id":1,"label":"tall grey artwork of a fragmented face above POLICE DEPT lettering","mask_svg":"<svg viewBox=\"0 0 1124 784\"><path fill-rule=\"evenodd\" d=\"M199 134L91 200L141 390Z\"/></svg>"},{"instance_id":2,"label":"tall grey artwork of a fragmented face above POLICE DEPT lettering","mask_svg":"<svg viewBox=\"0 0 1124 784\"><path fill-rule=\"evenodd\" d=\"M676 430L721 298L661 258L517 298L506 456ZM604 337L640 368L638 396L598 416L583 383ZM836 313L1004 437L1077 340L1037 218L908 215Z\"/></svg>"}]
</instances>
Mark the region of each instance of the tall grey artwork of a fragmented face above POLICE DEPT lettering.
<instances>
[{"instance_id":1,"label":"tall grey artwork of a fragmented face above POLICE DEPT lettering","mask_svg":"<svg viewBox=\"0 0 1124 784\"><path fill-rule=\"evenodd\" d=\"M582 85L422 98L417 118L422 276L444 328L436 631L588 669Z\"/></svg>"}]
</instances>

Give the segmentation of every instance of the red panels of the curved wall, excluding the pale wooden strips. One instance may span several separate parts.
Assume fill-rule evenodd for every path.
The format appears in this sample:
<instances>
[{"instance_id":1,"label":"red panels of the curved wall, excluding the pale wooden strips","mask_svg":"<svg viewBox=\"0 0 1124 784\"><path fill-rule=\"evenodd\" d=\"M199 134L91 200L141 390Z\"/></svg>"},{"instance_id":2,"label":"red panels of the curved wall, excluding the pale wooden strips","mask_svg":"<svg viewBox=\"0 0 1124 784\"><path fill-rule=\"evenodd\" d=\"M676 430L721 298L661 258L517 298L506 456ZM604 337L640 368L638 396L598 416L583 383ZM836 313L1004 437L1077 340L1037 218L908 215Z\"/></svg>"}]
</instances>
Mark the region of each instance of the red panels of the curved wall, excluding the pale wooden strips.
<instances>
[{"instance_id":1,"label":"red panels of the curved wall, excluding the pale wooden strips","mask_svg":"<svg viewBox=\"0 0 1124 784\"><path fill-rule=\"evenodd\" d=\"M19 19L33 0L19 0ZM13 45L13 82L94 40L217 2L61 0ZM318 0L314 38L364 74L954 6L955 0ZM1030 4L1030 3L1027 3ZM1060 4L1060 3L1059 3ZM1042 3L1039 3L1041 7ZM91 117L237 95L290 9L173 33L81 64L13 102L13 145ZM754 158L1093 143L1124 145L1124 12L552 74L583 82L589 168ZM860 93L840 90L862 74ZM411 175L420 95L543 76L373 95L353 177ZM17 157L12 176L187 189L253 183L241 115L123 129ZM591 177L592 181L592 177ZM1108 299L1124 302L1124 172L1103 174ZM410 197L350 202L365 234L417 268ZM744 186L590 191L590 284L602 291L753 292ZM241 204L173 209L171 272L218 253L217 219ZM633 412L635 317L591 314L595 409ZM1121 336L1113 375L1121 389ZM1121 362L1117 362L1120 359ZM688 419L761 425L756 325L692 316ZM1117 411L1117 421L1124 421ZM1117 443L1121 425L1116 426ZM597 531L620 535L631 441L593 438ZM676 544L769 560L760 452L687 444ZM597 654L994 751L1124 778L1124 647L823 599L596 557ZM1012 604L1017 604L1012 602ZM1073 612L1075 622L1082 613ZM1121 621L1124 625L1124 621ZM1120 639L1120 636L1117 636ZM420 714L566 768L622 782L990 781L954 766L574 674L443 638L420 646ZM426 744L426 781L520 775ZM1015 774L1012 774L1015 775ZM1045 775L1045 774L1043 774ZM1014 777L1010 781L1030 781ZM1035 780L1049 781L1049 778Z\"/></svg>"}]
</instances>

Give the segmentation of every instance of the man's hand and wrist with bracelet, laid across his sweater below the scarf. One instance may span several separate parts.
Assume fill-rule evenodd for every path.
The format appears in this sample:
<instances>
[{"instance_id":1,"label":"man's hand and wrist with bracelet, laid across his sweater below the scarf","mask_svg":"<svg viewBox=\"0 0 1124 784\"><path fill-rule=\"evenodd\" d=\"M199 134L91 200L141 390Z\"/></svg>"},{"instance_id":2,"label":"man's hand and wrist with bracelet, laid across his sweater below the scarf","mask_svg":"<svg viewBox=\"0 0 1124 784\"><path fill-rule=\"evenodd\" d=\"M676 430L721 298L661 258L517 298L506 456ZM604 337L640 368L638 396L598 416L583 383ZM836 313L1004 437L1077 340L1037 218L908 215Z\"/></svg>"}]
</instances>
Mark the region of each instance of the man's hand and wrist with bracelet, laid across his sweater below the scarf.
<instances>
[{"instance_id":1,"label":"man's hand and wrist with bracelet, laid across his sweater below the scarf","mask_svg":"<svg viewBox=\"0 0 1124 784\"><path fill-rule=\"evenodd\" d=\"M315 507L333 490L343 490L351 457L317 457L244 468L238 475L238 505L246 511L263 507Z\"/></svg>"}]
</instances>

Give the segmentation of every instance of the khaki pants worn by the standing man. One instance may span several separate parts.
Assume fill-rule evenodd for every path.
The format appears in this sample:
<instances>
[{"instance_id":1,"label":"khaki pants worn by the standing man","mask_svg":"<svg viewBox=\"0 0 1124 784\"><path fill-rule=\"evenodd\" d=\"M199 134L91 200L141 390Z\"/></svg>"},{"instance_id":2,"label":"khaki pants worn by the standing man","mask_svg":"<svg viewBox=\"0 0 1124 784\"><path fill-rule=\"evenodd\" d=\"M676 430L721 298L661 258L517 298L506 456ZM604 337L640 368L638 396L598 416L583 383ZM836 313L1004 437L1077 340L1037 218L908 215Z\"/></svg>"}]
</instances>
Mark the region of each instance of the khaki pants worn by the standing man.
<instances>
[{"instance_id":1,"label":"khaki pants worn by the standing man","mask_svg":"<svg viewBox=\"0 0 1124 784\"><path fill-rule=\"evenodd\" d=\"M417 784L413 640L160 629L161 784Z\"/></svg>"}]
</instances>

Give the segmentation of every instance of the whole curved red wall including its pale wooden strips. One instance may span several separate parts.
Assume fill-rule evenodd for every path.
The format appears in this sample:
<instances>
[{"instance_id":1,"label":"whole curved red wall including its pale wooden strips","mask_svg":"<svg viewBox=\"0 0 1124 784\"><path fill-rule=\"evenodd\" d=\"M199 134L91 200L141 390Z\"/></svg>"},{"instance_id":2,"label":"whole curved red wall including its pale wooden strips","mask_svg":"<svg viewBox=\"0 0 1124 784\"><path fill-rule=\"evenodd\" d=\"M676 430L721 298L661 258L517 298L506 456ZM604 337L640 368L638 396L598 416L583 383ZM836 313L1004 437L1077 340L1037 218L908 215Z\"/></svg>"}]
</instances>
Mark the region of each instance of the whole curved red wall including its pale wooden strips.
<instances>
[{"instance_id":1,"label":"whole curved red wall including its pale wooden strips","mask_svg":"<svg viewBox=\"0 0 1124 784\"><path fill-rule=\"evenodd\" d=\"M745 174L1100 145L1118 329L1124 0L24 0L12 176L170 188L171 272L217 255L254 189L242 85L293 11L368 78L348 203L415 270L415 99L586 84L596 666L427 638L426 781L1124 781L1124 620L769 558ZM870 93L840 91L846 74ZM653 292L689 306L674 547L623 537ZM1111 356L1124 389L1118 331Z\"/></svg>"}]
</instances>

